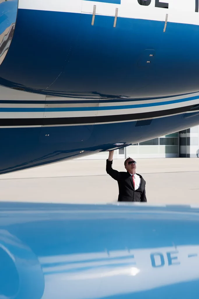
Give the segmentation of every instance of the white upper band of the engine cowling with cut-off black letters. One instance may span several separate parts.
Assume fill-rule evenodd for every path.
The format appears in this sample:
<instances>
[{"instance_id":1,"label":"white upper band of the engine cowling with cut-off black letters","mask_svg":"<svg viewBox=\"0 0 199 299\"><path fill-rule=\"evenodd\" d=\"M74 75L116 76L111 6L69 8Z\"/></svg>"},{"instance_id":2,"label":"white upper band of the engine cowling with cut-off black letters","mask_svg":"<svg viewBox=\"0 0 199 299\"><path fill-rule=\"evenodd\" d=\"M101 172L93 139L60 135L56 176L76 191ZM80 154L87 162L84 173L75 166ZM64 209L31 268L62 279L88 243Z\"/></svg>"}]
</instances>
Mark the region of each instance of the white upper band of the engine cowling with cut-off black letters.
<instances>
[{"instance_id":1,"label":"white upper band of the engine cowling with cut-off black letters","mask_svg":"<svg viewBox=\"0 0 199 299\"><path fill-rule=\"evenodd\" d=\"M122 18L165 22L168 14L168 22L199 25L195 0L165 0L164 2L169 4L168 9L155 7L155 0L152 0L149 6L140 5L137 0L121 0L121 4L86 0L19 0L18 8L92 14L93 5L96 5L96 15L115 16L115 9L118 8L118 17Z\"/></svg>"}]
</instances>

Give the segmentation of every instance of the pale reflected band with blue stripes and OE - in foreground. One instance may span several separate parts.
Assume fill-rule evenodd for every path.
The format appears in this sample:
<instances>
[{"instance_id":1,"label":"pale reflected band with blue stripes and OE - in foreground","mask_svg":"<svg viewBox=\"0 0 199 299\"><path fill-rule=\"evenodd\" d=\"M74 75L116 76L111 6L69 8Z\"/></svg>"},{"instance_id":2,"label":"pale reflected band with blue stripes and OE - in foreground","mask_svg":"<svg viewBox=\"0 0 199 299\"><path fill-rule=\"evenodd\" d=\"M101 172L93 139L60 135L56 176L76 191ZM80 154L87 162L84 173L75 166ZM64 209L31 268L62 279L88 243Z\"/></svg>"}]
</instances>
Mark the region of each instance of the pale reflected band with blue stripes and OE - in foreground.
<instances>
[{"instance_id":1,"label":"pale reflected band with blue stripes and OE - in foreground","mask_svg":"<svg viewBox=\"0 0 199 299\"><path fill-rule=\"evenodd\" d=\"M39 257L42 299L103 298L199 279L199 245Z\"/></svg>"}]
</instances>

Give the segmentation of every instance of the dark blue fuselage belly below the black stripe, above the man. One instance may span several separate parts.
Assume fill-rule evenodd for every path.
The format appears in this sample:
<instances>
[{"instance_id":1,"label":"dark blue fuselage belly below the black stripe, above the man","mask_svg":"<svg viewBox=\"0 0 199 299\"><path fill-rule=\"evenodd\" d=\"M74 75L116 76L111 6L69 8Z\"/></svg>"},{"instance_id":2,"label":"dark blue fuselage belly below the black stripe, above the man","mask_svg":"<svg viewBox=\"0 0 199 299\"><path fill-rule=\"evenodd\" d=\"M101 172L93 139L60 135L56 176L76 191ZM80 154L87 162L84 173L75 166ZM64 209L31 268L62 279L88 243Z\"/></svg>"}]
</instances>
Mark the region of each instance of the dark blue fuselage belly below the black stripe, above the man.
<instances>
[{"instance_id":1,"label":"dark blue fuselage belly below the black stripe, above the man","mask_svg":"<svg viewBox=\"0 0 199 299\"><path fill-rule=\"evenodd\" d=\"M173 128L177 132L185 127L196 126L199 115L189 118L183 118L183 115L156 118L147 126L136 126L136 123L1 128L0 140L3 146L0 147L0 174L75 158L82 150L84 155L90 155L117 148L117 143L131 145L163 133L172 133Z\"/></svg>"}]
</instances>

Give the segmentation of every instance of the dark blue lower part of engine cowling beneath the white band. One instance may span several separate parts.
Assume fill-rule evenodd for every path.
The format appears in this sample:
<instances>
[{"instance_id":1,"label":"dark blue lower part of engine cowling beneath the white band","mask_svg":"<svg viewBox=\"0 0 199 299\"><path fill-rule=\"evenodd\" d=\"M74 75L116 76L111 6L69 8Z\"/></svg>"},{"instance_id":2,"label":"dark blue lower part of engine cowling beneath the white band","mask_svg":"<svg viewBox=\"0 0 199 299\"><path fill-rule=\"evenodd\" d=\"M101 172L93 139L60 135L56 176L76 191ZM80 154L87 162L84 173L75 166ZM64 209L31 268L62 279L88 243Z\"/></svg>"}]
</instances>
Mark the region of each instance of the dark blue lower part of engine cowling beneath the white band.
<instances>
[{"instance_id":1,"label":"dark blue lower part of engine cowling beneath the white band","mask_svg":"<svg viewBox=\"0 0 199 299\"><path fill-rule=\"evenodd\" d=\"M198 91L198 26L168 22L163 33L160 21L118 17L113 28L114 16L96 15L93 26L91 20L89 14L19 9L0 84L99 98ZM155 53L150 64L146 49Z\"/></svg>"}]
</instances>

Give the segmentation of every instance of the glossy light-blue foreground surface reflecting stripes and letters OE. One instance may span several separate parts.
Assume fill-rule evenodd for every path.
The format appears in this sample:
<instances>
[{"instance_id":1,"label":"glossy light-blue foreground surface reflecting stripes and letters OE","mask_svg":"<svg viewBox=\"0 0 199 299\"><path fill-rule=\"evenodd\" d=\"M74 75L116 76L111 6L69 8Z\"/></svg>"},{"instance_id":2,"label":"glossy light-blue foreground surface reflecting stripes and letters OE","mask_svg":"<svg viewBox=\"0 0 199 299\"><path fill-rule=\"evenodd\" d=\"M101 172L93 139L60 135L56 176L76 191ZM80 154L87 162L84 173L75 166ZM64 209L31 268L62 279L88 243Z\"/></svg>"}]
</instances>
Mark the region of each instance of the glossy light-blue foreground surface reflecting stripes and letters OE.
<instances>
[{"instance_id":1,"label":"glossy light-blue foreground surface reflecting stripes and letters OE","mask_svg":"<svg viewBox=\"0 0 199 299\"><path fill-rule=\"evenodd\" d=\"M198 298L199 208L0 203L0 298Z\"/></svg>"}]
</instances>

